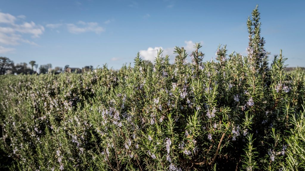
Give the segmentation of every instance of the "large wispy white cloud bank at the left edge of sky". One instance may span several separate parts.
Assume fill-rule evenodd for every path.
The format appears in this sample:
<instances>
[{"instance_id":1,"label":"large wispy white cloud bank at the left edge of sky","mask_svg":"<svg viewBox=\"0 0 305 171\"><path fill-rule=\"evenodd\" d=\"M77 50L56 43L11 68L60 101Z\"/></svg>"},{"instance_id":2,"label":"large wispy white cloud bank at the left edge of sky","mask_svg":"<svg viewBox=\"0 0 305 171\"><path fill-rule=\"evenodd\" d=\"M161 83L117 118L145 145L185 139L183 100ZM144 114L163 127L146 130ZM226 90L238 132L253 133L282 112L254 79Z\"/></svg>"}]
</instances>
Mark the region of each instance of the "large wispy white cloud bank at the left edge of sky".
<instances>
[{"instance_id":1,"label":"large wispy white cloud bank at the left edge of sky","mask_svg":"<svg viewBox=\"0 0 305 171\"><path fill-rule=\"evenodd\" d=\"M30 35L32 38L40 37L45 28L41 25L37 25L33 21L20 23L20 19L25 19L26 16L13 16L9 13L0 12L0 53L12 52L15 48L3 47L16 46L21 43L27 43L31 45L37 45L35 42L24 39L24 35Z\"/></svg>"}]
</instances>

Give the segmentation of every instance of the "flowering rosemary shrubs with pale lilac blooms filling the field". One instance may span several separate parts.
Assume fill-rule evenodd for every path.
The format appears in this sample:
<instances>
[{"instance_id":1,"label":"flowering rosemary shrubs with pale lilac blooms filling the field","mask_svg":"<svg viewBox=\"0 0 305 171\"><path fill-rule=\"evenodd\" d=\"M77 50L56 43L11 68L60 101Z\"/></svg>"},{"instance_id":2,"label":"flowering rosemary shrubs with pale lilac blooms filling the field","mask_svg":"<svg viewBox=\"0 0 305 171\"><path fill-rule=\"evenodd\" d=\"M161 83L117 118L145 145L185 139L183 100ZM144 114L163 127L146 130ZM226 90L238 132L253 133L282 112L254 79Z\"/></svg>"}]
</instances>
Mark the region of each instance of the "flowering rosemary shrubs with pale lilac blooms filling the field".
<instances>
[{"instance_id":1,"label":"flowering rosemary shrubs with pale lilac blooms filling the field","mask_svg":"<svg viewBox=\"0 0 305 171\"><path fill-rule=\"evenodd\" d=\"M1 76L3 168L11 170L303 170L302 70L271 65L260 13L248 55L203 62L196 44L133 68ZM187 58L190 56L191 64ZM5 160L3 160L5 161Z\"/></svg>"}]
</instances>

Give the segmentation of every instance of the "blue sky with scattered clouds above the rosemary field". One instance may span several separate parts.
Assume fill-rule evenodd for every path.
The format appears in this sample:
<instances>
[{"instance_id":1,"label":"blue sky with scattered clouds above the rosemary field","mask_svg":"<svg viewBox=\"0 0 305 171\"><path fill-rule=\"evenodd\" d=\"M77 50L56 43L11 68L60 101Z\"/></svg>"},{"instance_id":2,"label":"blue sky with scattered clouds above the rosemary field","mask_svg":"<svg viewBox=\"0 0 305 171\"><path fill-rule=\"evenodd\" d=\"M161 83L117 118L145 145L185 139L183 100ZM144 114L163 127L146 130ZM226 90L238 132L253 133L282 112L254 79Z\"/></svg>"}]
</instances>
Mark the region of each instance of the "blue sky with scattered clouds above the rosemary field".
<instances>
[{"instance_id":1,"label":"blue sky with scattered clouds above the rosemary field","mask_svg":"<svg viewBox=\"0 0 305 171\"><path fill-rule=\"evenodd\" d=\"M256 5L266 50L305 67L305 1L185 0L0 0L0 56L15 63L36 61L53 67L120 68L140 51L153 60L156 49L192 50L201 42L205 60L219 44L246 55L246 20Z\"/></svg>"}]
</instances>

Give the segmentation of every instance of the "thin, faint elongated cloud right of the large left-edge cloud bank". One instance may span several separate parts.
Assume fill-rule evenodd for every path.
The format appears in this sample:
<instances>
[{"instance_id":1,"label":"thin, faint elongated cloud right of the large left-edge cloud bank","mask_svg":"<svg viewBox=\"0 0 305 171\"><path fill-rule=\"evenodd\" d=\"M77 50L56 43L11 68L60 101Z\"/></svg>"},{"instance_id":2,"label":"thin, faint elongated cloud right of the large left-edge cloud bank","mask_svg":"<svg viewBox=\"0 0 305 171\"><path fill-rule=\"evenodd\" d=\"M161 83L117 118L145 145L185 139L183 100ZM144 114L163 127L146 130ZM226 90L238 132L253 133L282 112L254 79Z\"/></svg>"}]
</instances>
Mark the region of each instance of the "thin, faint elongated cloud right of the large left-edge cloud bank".
<instances>
[{"instance_id":1,"label":"thin, faint elongated cloud right of the large left-edge cloud bank","mask_svg":"<svg viewBox=\"0 0 305 171\"><path fill-rule=\"evenodd\" d=\"M75 24L66 24L68 31L70 33L79 34L79 33L85 33L85 32L95 32L96 34L99 34L105 29L101 26L99 26L98 23L89 22L85 23L83 21L79 21L77 25Z\"/></svg>"}]
</instances>

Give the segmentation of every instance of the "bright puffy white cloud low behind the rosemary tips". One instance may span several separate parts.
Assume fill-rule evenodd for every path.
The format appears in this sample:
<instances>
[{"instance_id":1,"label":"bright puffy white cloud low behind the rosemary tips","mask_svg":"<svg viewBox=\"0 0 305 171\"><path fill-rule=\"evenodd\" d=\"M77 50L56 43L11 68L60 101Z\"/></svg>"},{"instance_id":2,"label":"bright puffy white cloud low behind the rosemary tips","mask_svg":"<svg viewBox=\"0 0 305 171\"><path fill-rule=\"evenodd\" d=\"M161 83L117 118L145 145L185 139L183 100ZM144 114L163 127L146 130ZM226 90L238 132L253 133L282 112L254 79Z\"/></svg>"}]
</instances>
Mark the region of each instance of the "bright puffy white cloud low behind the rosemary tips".
<instances>
[{"instance_id":1,"label":"bright puffy white cloud low behind the rosemary tips","mask_svg":"<svg viewBox=\"0 0 305 171\"><path fill-rule=\"evenodd\" d=\"M190 41L184 41L185 46L184 49L186 50L186 52L188 54L190 54L193 50L194 50L194 45L195 43L193 43L191 40ZM203 44L203 42L200 42L201 45ZM149 61L154 61L156 56L157 56L157 51L159 51L161 48L161 50L163 50L163 56L165 55L169 55L170 59L173 60L174 57L176 56L176 54L174 54L174 47L168 47L168 48L163 48L163 47L149 47L147 50L140 50L140 55L141 58L144 60L149 60Z\"/></svg>"}]
</instances>

